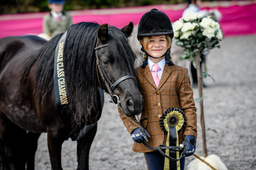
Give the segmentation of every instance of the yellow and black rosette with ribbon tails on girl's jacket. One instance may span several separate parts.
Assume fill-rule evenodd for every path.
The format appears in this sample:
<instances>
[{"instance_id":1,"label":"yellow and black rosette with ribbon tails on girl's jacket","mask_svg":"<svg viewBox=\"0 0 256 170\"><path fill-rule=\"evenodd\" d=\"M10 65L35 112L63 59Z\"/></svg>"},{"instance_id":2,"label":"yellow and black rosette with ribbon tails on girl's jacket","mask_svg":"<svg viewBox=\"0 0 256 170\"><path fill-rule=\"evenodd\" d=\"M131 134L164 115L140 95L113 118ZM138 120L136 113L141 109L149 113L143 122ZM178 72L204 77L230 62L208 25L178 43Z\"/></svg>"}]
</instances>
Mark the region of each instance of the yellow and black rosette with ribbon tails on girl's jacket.
<instances>
[{"instance_id":1,"label":"yellow and black rosette with ribbon tails on girl's jacket","mask_svg":"<svg viewBox=\"0 0 256 170\"><path fill-rule=\"evenodd\" d=\"M178 133L186 126L185 113L179 108L169 108L165 114L160 117L160 127L167 134L166 146L179 146ZM166 149L166 155L180 159L179 151ZM180 161L172 161L165 158L164 170L169 170L170 167L174 170L180 170Z\"/></svg>"}]
</instances>

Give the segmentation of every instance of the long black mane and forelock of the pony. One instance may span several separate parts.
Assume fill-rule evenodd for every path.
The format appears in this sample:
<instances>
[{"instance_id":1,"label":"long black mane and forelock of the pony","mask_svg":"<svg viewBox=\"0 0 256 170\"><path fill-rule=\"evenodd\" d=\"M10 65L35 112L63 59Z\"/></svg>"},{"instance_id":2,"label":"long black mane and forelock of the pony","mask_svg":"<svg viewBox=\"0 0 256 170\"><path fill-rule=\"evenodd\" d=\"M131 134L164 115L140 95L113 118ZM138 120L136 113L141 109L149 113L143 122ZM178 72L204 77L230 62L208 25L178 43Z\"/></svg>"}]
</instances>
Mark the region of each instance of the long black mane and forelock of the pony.
<instances>
[{"instance_id":1,"label":"long black mane and forelock of the pony","mask_svg":"<svg viewBox=\"0 0 256 170\"><path fill-rule=\"evenodd\" d=\"M95 115L90 115L90 113L99 112L98 102L96 102L99 82L94 51L99 26L97 23L78 23L70 26L67 32L64 45L64 71L69 102L67 116L71 119L73 128L80 129L84 122L95 119ZM37 64L33 94L41 96L38 103L41 108L47 107L47 99L49 99L53 88L55 48L61 35L52 38L38 50L38 54L26 63L28 68ZM111 60L119 65L120 74L134 75L136 56L120 29L108 26L108 44L109 53L113 57ZM29 70L25 72L25 77L28 74Z\"/></svg>"}]
</instances>

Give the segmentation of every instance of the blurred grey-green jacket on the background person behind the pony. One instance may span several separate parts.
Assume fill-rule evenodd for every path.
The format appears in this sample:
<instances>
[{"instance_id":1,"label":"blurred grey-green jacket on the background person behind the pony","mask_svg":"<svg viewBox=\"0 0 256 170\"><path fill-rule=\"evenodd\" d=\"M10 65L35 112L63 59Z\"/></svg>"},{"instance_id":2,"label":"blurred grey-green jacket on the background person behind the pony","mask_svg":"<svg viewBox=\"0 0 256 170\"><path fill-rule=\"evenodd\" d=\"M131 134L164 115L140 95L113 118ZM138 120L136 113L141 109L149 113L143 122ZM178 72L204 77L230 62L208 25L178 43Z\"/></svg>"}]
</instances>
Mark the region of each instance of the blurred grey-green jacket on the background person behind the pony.
<instances>
[{"instance_id":1,"label":"blurred grey-green jacket on the background person behind the pony","mask_svg":"<svg viewBox=\"0 0 256 170\"><path fill-rule=\"evenodd\" d=\"M52 14L47 14L43 19L43 32L50 37L54 37L57 34L67 31L67 29L73 24L72 17L69 12L62 11L61 20L58 22Z\"/></svg>"}]
</instances>

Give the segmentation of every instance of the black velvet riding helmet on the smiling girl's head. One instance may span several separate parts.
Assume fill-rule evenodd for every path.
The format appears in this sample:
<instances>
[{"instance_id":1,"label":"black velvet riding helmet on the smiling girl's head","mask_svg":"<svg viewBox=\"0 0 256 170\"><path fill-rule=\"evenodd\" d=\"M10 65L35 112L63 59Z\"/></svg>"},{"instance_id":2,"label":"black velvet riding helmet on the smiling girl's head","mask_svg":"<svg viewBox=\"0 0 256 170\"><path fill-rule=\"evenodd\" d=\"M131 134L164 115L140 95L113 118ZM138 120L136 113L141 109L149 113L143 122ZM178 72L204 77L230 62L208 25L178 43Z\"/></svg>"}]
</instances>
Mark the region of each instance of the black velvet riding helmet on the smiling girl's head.
<instances>
[{"instance_id":1,"label":"black velvet riding helmet on the smiling girl's head","mask_svg":"<svg viewBox=\"0 0 256 170\"><path fill-rule=\"evenodd\" d=\"M141 17L137 38L140 41L142 37L154 35L169 35L171 38L174 35L169 17L156 8L151 9Z\"/></svg>"}]
</instances>

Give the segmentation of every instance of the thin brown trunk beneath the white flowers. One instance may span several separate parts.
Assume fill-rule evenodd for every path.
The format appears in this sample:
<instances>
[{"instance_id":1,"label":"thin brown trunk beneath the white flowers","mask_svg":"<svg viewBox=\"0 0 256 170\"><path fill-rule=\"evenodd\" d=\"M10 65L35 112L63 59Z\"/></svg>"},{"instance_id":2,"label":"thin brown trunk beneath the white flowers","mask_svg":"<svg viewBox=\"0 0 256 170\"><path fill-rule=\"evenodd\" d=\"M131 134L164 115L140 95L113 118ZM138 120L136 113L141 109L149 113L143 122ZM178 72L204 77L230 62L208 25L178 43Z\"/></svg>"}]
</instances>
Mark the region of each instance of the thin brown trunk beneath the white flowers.
<instances>
[{"instance_id":1,"label":"thin brown trunk beneath the white flowers","mask_svg":"<svg viewBox=\"0 0 256 170\"><path fill-rule=\"evenodd\" d=\"M198 78L198 91L199 91L199 99L200 100L200 112L201 112L201 127L202 127L202 136L203 136L203 147L204 147L204 158L208 156L207 147L206 147L206 137L205 137L205 125L204 125L204 103L203 103L203 81L202 74L200 68L200 53L196 54L196 72Z\"/></svg>"}]
</instances>

